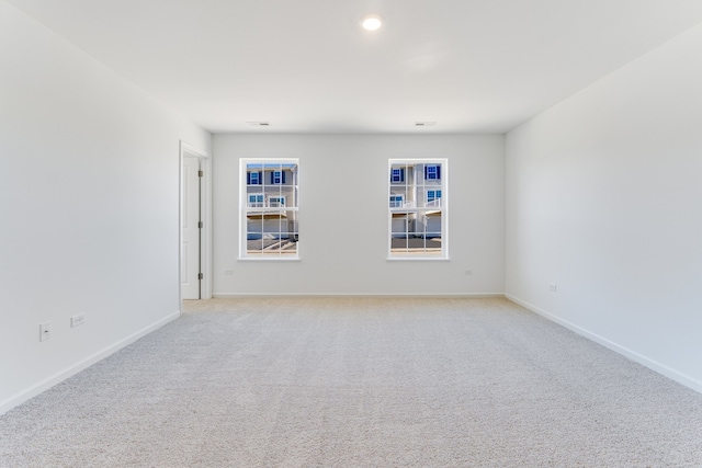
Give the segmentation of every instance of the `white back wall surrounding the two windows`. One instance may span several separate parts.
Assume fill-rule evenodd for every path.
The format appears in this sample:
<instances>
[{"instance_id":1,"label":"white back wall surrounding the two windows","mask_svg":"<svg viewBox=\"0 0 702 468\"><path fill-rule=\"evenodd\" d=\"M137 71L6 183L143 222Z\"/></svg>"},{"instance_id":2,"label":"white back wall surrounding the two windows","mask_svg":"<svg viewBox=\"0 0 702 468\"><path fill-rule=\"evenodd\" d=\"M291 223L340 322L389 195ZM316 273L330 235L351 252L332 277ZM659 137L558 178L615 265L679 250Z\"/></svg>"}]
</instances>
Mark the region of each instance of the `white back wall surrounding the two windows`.
<instances>
[{"instance_id":1,"label":"white back wall surrounding the two windows","mask_svg":"<svg viewBox=\"0 0 702 468\"><path fill-rule=\"evenodd\" d=\"M215 296L503 292L501 135L215 135L213 151ZM299 158L301 261L237 260L239 158ZM449 159L450 261L386 260L388 158Z\"/></svg>"}]
</instances>

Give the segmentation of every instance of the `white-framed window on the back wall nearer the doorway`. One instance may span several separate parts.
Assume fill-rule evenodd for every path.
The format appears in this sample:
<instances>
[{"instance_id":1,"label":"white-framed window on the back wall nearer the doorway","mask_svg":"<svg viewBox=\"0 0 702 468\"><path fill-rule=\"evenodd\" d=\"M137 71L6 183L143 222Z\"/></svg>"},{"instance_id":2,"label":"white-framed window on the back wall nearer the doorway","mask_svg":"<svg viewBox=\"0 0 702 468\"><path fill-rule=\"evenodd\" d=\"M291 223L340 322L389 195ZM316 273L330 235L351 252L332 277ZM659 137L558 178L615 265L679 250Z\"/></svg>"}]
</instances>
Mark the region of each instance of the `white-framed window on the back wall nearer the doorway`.
<instances>
[{"instance_id":1,"label":"white-framed window on the back wall nearer the doorway","mask_svg":"<svg viewBox=\"0 0 702 468\"><path fill-rule=\"evenodd\" d=\"M244 201L239 253L245 259L297 259L297 159L241 159ZM244 178L244 176L242 176Z\"/></svg>"}]
</instances>

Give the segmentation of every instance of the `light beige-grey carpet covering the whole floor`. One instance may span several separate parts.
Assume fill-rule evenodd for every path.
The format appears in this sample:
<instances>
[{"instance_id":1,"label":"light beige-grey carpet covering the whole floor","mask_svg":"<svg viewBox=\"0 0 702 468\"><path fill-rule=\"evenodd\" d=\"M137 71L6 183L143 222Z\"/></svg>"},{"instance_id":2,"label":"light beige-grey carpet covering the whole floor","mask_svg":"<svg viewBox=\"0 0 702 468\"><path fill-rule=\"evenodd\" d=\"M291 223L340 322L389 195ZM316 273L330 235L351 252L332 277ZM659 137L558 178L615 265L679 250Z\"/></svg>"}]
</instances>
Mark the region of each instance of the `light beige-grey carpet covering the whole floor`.
<instances>
[{"instance_id":1,"label":"light beige-grey carpet covering the whole floor","mask_svg":"<svg viewBox=\"0 0 702 468\"><path fill-rule=\"evenodd\" d=\"M702 467L702 395L505 299L215 299L0 418L0 466Z\"/></svg>"}]
</instances>

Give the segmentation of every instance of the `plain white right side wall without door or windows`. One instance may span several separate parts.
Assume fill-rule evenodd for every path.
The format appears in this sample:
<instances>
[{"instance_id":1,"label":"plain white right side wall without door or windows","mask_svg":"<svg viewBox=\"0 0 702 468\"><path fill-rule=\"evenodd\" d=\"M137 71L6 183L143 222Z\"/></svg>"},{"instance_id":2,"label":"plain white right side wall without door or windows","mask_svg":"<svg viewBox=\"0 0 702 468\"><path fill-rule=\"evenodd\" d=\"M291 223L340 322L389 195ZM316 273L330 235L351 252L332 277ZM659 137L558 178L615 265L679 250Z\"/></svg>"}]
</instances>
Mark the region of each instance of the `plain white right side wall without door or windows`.
<instances>
[{"instance_id":1,"label":"plain white right side wall without door or windows","mask_svg":"<svg viewBox=\"0 0 702 468\"><path fill-rule=\"evenodd\" d=\"M508 134L506 290L702 391L701 57L702 25Z\"/></svg>"}]
</instances>

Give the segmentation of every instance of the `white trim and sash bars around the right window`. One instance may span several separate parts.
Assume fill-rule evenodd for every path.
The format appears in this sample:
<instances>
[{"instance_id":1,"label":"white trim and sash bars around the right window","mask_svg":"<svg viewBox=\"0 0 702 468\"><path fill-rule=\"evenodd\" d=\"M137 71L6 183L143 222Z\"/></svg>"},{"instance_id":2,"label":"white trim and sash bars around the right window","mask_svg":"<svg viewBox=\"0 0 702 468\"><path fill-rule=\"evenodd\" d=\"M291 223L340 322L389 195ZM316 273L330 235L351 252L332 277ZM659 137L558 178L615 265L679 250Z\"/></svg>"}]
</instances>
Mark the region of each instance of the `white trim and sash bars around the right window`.
<instances>
[{"instance_id":1,"label":"white trim and sash bars around the right window","mask_svg":"<svg viewBox=\"0 0 702 468\"><path fill-rule=\"evenodd\" d=\"M431 185L431 189L427 189L427 190L440 190L441 191L441 206L439 207L426 207L426 208L411 208L411 210L417 209L417 212L422 212L422 210L435 210L435 209L440 209L441 210L441 255L433 255L433 256L429 256L429 255L411 255L411 254L407 254L407 255L393 255L392 254L392 241L393 241L393 209L395 210L405 210L407 209L405 208L392 208L389 207L389 196L390 195L396 195L392 193L393 187L397 187L397 185L393 185L393 181L392 181L392 174L393 174L393 165L397 165L397 164L405 164L405 165L418 165L418 164L424 164L424 165L441 165L441 179L431 179L431 181L440 181L441 185ZM451 258L449 256L449 198L448 198L448 194L449 194L449 160L445 158L427 158L427 159L388 159L387 161L387 170L388 170L388 179L386 179L388 182L387 184L387 201L388 201L388 208L386 208L388 210L388 215L387 215L387 261L450 261ZM417 178L417 171L415 171L415 176ZM422 171L423 172L423 171ZM423 185L423 173L421 174L421 182L422 182L422 186ZM405 170L405 184L407 185L407 168Z\"/></svg>"}]
</instances>

